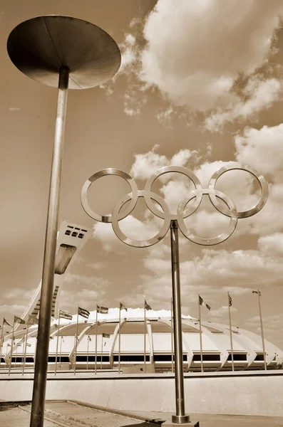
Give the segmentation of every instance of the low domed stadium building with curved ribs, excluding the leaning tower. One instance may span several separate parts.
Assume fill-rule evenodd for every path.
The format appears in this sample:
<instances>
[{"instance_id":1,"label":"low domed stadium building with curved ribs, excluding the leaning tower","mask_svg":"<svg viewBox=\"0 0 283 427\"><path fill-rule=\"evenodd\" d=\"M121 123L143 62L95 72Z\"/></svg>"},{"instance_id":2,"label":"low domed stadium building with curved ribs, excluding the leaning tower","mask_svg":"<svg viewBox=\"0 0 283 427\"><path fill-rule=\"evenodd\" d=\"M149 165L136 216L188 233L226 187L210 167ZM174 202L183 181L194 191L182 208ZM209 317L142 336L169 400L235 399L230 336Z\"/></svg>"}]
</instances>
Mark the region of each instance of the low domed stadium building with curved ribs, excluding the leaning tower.
<instances>
[{"instance_id":1,"label":"low domed stadium building with curved ribs, excluding the leaning tower","mask_svg":"<svg viewBox=\"0 0 283 427\"><path fill-rule=\"evenodd\" d=\"M117 310L109 315L98 315L98 325L88 320L78 324L78 346L76 369L113 370L118 369L119 323ZM124 313L124 312L123 312ZM143 370L169 371L172 369L172 326L170 312L160 310L146 312L128 310L120 326L120 368L131 369L140 365ZM76 316L73 316L73 319ZM91 315L91 317L93 317ZM58 330L58 321L51 325L48 362L54 364L58 339L58 369L72 369L76 349L76 322L64 322ZM200 325L190 316L182 317L183 364L185 371L200 371ZM12 362L21 366L24 356L26 330L15 332ZM103 335L104 334L104 335ZM37 327L29 327L28 347L26 347L26 366L34 364ZM144 340L145 339L145 340ZM144 347L145 342L145 347ZM238 327L232 327L233 358L235 369L264 369L262 338ZM4 340L1 361L8 362L11 352L11 334ZM265 340L267 369L274 369L283 362L283 352ZM97 353L97 363L96 361ZM7 359L8 358L8 359ZM202 362L205 371L232 369L230 349L230 330L227 325L215 322L202 322Z\"/></svg>"}]
</instances>

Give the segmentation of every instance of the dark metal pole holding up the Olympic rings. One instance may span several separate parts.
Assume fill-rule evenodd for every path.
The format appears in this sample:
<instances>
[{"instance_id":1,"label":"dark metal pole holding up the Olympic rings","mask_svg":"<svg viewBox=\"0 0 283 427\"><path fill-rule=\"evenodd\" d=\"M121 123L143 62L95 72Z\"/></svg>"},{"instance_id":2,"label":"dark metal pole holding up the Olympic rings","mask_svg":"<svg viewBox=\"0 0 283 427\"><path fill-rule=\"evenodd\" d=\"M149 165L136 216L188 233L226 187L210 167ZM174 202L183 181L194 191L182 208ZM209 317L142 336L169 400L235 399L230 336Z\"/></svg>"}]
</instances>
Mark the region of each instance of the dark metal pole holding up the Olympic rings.
<instances>
[{"instance_id":1,"label":"dark metal pole holding up the Olympic rings","mask_svg":"<svg viewBox=\"0 0 283 427\"><path fill-rule=\"evenodd\" d=\"M182 315L180 292L179 241L177 221L170 223L171 263L173 285L173 319L174 319L174 352L175 352L175 399L176 415L173 423L190 423L190 416L185 415L184 371L182 368Z\"/></svg>"}]
</instances>

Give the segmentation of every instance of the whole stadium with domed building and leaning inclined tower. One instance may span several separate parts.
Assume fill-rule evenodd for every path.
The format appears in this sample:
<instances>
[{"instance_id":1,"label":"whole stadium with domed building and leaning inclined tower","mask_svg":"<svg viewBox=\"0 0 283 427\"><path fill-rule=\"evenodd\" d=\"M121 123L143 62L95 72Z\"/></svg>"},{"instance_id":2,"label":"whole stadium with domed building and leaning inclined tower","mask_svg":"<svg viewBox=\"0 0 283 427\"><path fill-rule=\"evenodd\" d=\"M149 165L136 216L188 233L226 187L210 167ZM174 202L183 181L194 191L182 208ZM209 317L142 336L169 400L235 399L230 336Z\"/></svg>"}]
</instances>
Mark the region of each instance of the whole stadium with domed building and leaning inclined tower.
<instances>
[{"instance_id":1,"label":"whole stadium with domed building and leaning inclined tower","mask_svg":"<svg viewBox=\"0 0 283 427\"><path fill-rule=\"evenodd\" d=\"M76 315L73 315L72 320L60 319L58 327L58 300L64 276L90 234L88 228L68 221L62 221L58 231L48 369L54 370L56 365L56 370L61 371L95 369L104 372L119 370L126 373L161 373L173 370L173 327L170 311L128 308L127 311L121 311L119 325L119 309L110 308L108 314L97 315L97 324L96 312L91 312L88 320L84 322L80 317L78 325ZM41 283L21 316L25 322L29 320L29 316L38 316L40 291ZM34 368L38 327L32 325L28 329L20 329L23 326L14 325L13 337L11 331L3 335L2 368L10 367L23 371ZM203 371L229 371L232 369L232 362L235 370L264 369L261 336L232 327L231 352L230 329L227 325L202 322L201 329L202 354L198 320L182 316L185 372L200 371L201 365ZM282 350L266 339L264 343L267 369L282 367Z\"/></svg>"}]
</instances>

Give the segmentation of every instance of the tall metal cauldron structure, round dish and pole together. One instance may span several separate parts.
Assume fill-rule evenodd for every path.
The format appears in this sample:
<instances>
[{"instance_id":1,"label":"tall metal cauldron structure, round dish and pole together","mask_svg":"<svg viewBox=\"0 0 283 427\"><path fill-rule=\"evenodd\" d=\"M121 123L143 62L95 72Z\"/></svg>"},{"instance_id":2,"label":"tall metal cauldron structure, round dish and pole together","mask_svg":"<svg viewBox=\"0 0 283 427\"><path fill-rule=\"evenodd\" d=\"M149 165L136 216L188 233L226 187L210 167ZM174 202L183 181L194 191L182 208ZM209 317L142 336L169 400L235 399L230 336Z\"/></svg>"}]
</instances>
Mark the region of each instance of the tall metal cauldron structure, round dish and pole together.
<instances>
[{"instance_id":1,"label":"tall metal cauldron structure, round dish and pole together","mask_svg":"<svg viewBox=\"0 0 283 427\"><path fill-rule=\"evenodd\" d=\"M112 78L120 67L120 50L93 23L59 15L20 23L9 35L7 50L22 73L58 88L31 406L31 427L42 427L68 89L93 88Z\"/></svg>"}]
</instances>

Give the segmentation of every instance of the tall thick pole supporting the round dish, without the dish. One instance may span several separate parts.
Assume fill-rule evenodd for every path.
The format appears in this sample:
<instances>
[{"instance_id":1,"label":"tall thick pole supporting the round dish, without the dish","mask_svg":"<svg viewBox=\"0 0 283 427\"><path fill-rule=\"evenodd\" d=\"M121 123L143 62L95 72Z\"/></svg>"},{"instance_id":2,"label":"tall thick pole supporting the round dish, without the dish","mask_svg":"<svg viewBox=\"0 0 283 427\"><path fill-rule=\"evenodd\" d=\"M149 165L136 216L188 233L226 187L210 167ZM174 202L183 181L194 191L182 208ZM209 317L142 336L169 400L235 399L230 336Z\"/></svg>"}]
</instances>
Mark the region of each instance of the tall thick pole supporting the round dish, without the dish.
<instances>
[{"instance_id":1,"label":"tall thick pole supporting the round dish, without the dish","mask_svg":"<svg viewBox=\"0 0 283 427\"><path fill-rule=\"evenodd\" d=\"M43 427L68 78L69 70L67 67L62 66L60 68L58 83L55 138L48 199L48 215L40 300L41 306L39 311L30 427Z\"/></svg>"}]
</instances>

